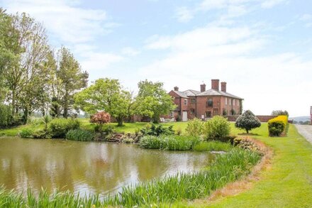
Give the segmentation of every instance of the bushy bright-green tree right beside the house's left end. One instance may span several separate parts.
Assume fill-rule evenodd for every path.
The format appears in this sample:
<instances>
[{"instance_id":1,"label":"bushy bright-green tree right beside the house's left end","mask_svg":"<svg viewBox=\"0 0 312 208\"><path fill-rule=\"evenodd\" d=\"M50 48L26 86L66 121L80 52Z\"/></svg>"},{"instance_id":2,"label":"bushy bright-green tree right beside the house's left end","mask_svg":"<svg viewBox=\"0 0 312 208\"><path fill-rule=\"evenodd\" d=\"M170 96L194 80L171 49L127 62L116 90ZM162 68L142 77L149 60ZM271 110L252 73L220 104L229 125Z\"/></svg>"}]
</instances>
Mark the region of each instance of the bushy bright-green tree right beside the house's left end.
<instances>
[{"instance_id":1,"label":"bushy bright-green tree right beside the house's left end","mask_svg":"<svg viewBox=\"0 0 312 208\"><path fill-rule=\"evenodd\" d=\"M160 116L169 114L177 106L173 98L167 94L162 82L141 81L138 83L139 92L136 97L136 113L149 116L154 123L160 121Z\"/></svg>"}]
</instances>

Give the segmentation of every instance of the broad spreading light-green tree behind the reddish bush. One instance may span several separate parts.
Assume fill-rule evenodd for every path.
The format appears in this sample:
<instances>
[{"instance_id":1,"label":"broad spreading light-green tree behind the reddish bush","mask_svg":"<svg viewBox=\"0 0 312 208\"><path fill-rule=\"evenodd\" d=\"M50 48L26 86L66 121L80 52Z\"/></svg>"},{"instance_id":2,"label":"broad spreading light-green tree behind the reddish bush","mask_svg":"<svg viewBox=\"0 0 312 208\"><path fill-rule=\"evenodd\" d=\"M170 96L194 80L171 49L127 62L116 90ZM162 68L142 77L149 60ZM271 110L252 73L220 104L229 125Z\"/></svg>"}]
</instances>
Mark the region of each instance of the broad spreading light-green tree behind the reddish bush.
<instances>
[{"instance_id":1,"label":"broad spreading light-green tree behind the reddish bush","mask_svg":"<svg viewBox=\"0 0 312 208\"><path fill-rule=\"evenodd\" d=\"M74 101L75 106L88 114L108 112L117 120L118 126L123 126L123 121L133 115L132 94L124 90L118 80L96 80L90 87L77 93Z\"/></svg>"}]
</instances>

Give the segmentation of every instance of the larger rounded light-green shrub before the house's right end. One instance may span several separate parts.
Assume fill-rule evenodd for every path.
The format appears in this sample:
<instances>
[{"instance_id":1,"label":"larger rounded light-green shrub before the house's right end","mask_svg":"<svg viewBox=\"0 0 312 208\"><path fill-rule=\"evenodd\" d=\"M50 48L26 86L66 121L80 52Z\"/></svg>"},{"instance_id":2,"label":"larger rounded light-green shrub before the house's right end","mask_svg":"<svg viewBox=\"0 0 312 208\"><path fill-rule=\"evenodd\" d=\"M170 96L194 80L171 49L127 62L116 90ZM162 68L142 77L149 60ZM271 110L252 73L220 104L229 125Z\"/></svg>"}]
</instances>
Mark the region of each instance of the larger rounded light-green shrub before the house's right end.
<instances>
[{"instance_id":1,"label":"larger rounded light-green shrub before the house's right end","mask_svg":"<svg viewBox=\"0 0 312 208\"><path fill-rule=\"evenodd\" d=\"M214 116L204 125L206 139L221 140L230 134L230 123L222 116Z\"/></svg>"}]
</instances>

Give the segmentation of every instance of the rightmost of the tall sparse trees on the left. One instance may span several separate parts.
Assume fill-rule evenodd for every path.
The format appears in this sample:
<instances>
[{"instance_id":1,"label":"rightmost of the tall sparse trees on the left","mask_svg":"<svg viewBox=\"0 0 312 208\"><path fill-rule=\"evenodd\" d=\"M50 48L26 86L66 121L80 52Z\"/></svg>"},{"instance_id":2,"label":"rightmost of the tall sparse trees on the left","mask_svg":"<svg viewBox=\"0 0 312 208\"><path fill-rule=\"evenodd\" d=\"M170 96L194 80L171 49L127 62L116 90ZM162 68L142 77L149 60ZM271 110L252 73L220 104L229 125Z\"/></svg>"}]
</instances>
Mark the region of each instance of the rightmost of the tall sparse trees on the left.
<instances>
[{"instance_id":1,"label":"rightmost of the tall sparse trees on the left","mask_svg":"<svg viewBox=\"0 0 312 208\"><path fill-rule=\"evenodd\" d=\"M55 77L55 102L62 106L65 118L69 116L74 104L74 94L87 87L89 74L82 71L79 62L69 49L62 47L59 50L59 62Z\"/></svg>"}]
</instances>

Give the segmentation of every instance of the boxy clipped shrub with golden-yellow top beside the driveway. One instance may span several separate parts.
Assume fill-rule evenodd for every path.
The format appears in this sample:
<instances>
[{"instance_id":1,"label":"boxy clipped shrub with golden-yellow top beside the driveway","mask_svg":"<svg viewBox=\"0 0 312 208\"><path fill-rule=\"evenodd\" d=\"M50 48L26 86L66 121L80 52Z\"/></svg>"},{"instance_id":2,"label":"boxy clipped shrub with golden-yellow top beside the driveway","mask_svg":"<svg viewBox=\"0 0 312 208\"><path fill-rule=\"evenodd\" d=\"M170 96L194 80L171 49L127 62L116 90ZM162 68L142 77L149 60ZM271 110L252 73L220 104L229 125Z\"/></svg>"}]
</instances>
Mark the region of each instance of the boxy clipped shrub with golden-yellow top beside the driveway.
<instances>
[{"instance_id":1,"label":"boxy clipped shrub with golden-yellow top beside the driveway","mask_svg":"<svg viewBox=\"0 0 312 208\"><path fill-rule=\"evenodd\" d=\"M287 116L277 116L274 119L268 121L269 136L281 136L283 132L286 132L286 126L288 126Z\"/></svg>"}]
</instances>

